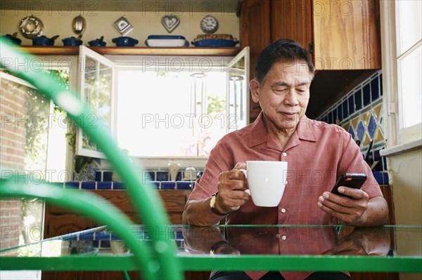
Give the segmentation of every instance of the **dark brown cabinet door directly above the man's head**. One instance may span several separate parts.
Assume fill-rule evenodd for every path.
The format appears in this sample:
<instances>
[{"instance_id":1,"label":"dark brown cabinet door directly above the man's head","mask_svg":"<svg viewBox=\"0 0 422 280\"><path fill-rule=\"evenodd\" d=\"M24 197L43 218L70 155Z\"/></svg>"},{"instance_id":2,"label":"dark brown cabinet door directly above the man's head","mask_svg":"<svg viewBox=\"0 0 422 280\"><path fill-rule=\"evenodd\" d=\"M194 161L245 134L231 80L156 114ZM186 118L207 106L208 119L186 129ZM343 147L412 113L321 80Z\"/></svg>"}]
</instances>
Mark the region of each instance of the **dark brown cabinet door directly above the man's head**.
<instances>
[{"instance_id":1,"label":"dark brown cabinet door directly above the man's head","mask_svg":"<svg viewBox=\"0 0 422 280\"><path fill-rule=\"evenodd\" d=\"M293 39L312 52L312 1L271 0L271 42Z\"/></svg>"}]
</instances>

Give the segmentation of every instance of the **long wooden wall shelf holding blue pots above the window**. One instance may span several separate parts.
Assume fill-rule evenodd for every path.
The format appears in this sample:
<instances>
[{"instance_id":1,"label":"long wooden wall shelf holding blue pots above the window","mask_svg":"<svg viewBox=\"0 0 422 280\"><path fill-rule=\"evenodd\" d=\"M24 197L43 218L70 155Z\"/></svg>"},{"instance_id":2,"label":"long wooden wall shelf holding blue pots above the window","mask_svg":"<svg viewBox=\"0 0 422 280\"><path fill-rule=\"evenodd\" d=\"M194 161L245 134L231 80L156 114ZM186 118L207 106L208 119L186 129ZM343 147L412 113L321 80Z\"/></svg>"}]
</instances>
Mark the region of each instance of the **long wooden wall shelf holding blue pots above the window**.
<instances>
[{"instance_id":1,"label":"long wooden wall shelf holding blue pots above the window","mask_svg":"<svg viewBox=\"0 0 422 280\"><path fill-rule=\"evenodd\" d=\"M78 55L77 46L21 46L23 51L34 55ZM89 47L101 55L188 55L188 56L236 56L241 48L151 48L151 47Z\"/></svg>"}]
</instances>

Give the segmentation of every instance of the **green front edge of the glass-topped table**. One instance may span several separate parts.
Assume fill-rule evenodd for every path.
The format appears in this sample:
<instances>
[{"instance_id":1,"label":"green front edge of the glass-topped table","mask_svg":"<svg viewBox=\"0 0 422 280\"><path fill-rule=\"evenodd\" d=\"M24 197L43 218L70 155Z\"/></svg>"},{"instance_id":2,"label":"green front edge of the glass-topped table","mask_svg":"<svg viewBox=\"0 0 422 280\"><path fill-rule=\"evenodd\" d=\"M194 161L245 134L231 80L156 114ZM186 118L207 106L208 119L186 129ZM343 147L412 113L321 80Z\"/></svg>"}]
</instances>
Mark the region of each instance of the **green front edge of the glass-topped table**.
<instances>
[{"instance_id":1,"label":"green front edge of the glass-topped table","mask_svg":"<svg viewBox=\"0 0 422 280\"><path fill-rule=\"evenodd\" d=\"M43 271L133 271L139 267L131 255L63 257L3 257L1 267L8 269L41 269ZM360 255L180 255L184 271L250 270L250 271L338 271L348 272L415 272L422 273L418 257L383 257Z\"/></svg>"}]
</instances>

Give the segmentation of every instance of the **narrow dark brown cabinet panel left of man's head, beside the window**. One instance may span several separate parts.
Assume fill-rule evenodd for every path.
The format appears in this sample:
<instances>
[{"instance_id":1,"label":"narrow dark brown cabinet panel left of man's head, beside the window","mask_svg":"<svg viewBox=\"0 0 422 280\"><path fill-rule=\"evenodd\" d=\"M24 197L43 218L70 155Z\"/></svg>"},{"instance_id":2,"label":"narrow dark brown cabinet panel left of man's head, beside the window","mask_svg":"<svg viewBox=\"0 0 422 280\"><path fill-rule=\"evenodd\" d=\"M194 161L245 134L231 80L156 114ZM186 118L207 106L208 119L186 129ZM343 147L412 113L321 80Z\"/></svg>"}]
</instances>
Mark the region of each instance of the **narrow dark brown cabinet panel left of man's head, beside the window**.
<instances>
[{"instance_id":1,"label":"narrow dark brown cabinet panel left of man's head, beside the window","mask_svg":"<svg viewBox=\"0 0 422 280\"><path fill-rule=\"evenodd\" d=\"M250 47L250 79L253 79L258 54L271 43L269 0L243 0L241 6L241 47ZM249 83L248 83L249 84ZM250 122L261 112L250 98Z\"/></svg>"}]
</instances>

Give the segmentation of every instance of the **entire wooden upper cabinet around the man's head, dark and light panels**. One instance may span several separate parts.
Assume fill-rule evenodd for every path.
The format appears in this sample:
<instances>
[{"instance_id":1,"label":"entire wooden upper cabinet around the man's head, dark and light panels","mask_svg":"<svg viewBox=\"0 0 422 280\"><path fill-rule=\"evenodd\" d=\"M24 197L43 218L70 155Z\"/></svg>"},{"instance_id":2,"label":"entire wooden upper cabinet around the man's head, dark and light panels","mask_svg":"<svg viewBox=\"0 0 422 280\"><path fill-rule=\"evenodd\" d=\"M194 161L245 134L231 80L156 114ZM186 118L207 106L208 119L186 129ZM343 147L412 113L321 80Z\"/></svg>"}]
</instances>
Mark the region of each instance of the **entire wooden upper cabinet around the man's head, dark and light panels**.
<instances>
[{"instance_id":1,"label":"entire wooden upper cabinet around the man's head, dark and light panels","mask_svg":"<svg viewBox=\"0 0 422 280\"><path fill-rule=\"evenodd\" d=\"M298 41L311 53L319 84L349 86L321 70L381 69L379 0L243 0L241 3L241 46L250 46L250 77L262 48L278 39ZM354 74L356 76L356 74ZM352 76L351 76L352 78ZM323 81L324 80L324 81ZM314 83L315 83L314 81ZM331 87L312 95L336 95ZM328 104L327 98L320 109ZM312 104L309 104L312 106ZM309 111L314 112L318 108ZM260 106L250 102L250 121Z\"/></svg>"}]
</instances>

